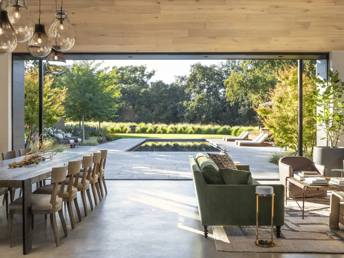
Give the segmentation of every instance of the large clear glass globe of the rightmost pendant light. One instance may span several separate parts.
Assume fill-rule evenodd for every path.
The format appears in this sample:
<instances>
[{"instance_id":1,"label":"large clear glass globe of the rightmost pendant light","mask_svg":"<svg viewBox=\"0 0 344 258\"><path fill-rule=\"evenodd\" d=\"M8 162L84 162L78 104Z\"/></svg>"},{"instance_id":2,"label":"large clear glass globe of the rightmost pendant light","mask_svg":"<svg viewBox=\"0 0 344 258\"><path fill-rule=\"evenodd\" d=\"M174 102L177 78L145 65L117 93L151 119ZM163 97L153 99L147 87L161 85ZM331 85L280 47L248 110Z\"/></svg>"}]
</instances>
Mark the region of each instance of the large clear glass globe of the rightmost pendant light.
<instances>
[{"instance_id":1,"label":"large clear glass globe of the rightmost pendant light","mask_svg":"<svg viewBox=\"0 0 344 258\"><path fill-rule=\"evenodd\" d=\"M65 52L74 46L75 31L69 22L67 12L62 10L55 12L55 18L49 27L48 36L51 39L53 49L55 46L60 47L60 50L55 49L57 51Z\"/></svg>"}]
</instances>

